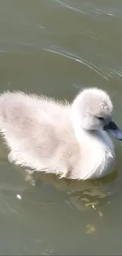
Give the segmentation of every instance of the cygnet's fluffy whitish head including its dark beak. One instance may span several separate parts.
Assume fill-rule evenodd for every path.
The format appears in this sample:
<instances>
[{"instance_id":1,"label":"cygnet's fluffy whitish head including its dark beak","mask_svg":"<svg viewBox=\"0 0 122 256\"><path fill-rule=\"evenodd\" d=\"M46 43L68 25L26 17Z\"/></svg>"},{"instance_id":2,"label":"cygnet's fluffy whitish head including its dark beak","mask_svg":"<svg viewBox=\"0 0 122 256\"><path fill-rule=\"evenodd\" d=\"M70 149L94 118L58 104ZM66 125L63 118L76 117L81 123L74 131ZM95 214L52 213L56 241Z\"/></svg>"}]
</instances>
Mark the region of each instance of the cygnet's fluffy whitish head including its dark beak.
<instances>
[{"instance_id":1,"label":"cygnet's fluffy whitish head including its dark beak","mask_svg":"<svg viewBox=\"0 0 122 256\"><path fill-rule=\"evenodd\" d=\"M107 92L98 88L84 89L72 103L72 122L87 131L112 133L122 139L122 132L113 122L113 103Z\"/></svg>"}]
</instances>

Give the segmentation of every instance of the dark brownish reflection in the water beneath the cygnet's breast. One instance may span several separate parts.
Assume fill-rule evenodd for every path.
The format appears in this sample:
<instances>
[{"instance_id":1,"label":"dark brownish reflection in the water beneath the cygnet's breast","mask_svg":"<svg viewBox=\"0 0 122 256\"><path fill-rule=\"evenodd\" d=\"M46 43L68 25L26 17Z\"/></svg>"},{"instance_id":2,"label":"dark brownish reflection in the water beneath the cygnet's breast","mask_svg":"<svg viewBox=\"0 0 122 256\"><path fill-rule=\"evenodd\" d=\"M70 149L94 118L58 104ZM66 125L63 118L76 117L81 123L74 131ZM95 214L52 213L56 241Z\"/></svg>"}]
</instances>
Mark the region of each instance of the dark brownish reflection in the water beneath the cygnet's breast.
<instances>
[{"instance_id":1,"label":"dark brownish reflection in the water beneath the cygnet's breast","mask_svg":"<svg viewBox=\"0 0 122 256\"><path fill-rule=\"evenodd\" d=\"M104 178L99 180L66 180L58 179L55 175L41 173L40 180L61 191L67 191L69 202L76 206L78 210L96 210L97 206L109 202L109 197L116 193L114 183L116 181L116 172L109 177L109 184ZM94 206L94 207L93 207Z\"/></svg>"}]
</instances>

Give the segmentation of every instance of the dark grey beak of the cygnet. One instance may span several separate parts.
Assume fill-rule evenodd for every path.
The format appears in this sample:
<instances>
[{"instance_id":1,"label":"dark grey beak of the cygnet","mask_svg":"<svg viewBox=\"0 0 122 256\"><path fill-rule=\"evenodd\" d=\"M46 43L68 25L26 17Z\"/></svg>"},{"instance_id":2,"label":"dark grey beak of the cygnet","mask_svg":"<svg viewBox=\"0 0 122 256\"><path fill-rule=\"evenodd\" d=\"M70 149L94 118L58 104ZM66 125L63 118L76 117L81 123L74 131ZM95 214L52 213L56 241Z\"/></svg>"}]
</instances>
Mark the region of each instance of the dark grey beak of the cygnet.
<instances>
[{"instance_id":1,"label":"dark grey beak of the cygnet","mask_svg":"<svg viewBox=\"0 0 122 256\"><path fill-rule=\"evenodd\" d=\"M105 124L103 130L109 132L111 135L116 137L116 139L122 140L122 131L120 131L114 121L110 121L109 124Z\"/></svg>"}]
</instances>

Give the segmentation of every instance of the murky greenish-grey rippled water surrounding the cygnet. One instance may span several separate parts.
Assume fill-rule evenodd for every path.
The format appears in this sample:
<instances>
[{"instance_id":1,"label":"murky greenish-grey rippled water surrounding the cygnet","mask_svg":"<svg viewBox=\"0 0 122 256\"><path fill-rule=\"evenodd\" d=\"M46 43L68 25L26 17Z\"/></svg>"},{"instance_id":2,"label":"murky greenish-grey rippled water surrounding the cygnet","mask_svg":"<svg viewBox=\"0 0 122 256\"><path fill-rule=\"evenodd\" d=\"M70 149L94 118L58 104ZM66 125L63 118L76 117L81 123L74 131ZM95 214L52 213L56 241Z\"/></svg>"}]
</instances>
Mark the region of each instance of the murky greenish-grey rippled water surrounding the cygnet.
<instances>
[{"instance_id":1,"label":"murky greenish-grey rippled water surrounding the cygnet","mask_svg":"<svg viewBox=\"0 0 122 256\"><path fill-rule=\"evenodd\" d=\"M113 98L122 128L122 1L1 0L0 91L69 101L81 87ZM41 176L32 187L0 143L0 254L121 255L122 147L94 182Z\"/></svg>"}]
</instances>

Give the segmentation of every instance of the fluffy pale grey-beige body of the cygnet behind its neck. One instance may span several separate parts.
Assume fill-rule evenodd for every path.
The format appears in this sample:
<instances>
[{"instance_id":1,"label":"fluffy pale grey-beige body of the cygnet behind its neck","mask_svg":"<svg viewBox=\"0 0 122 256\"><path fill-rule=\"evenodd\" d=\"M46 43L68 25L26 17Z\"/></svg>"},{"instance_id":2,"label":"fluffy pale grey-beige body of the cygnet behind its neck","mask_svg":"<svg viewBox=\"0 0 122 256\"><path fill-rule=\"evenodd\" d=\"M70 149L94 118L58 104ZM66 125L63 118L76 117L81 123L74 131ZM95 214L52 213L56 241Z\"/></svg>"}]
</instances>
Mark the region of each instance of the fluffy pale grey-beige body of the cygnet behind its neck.
<instances>
[{"instance_id":1,"label":"fluffy pale grey-beige body of the cygnet behind its neck","mask_svg":"<svg viewBox=\"0 0 122 256\"><path fill-rule=\"evenodd\" d=\"M77 161L67 103L8 91L0 96L0 131L17 165L63 175Z\"/></svg>"}]
</instances>

